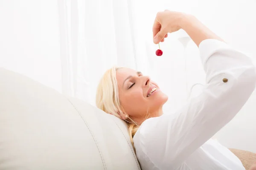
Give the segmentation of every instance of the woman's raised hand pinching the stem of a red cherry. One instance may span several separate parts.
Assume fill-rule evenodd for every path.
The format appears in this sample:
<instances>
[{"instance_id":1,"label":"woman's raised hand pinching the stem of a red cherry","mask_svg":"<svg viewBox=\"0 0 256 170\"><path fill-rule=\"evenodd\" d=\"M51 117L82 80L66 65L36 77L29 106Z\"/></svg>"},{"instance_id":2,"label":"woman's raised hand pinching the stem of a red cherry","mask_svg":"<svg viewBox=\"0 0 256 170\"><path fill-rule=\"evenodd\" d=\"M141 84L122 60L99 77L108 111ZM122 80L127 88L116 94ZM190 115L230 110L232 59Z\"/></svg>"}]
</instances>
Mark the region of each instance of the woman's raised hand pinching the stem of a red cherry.
<instances>
[{"instance_id":1,"label":"woman's raised hand pinching the stem of a red cherry","mask_svg":"<svg viewBox=\"0 0 256 170\"><path fill-rule=\"evenodd\" d=\"M172 33L180 29L180 20L184 14L165 10L158 12L153 25L154 43L163 42L167 33Z\"/></svg>"}]
</instances>

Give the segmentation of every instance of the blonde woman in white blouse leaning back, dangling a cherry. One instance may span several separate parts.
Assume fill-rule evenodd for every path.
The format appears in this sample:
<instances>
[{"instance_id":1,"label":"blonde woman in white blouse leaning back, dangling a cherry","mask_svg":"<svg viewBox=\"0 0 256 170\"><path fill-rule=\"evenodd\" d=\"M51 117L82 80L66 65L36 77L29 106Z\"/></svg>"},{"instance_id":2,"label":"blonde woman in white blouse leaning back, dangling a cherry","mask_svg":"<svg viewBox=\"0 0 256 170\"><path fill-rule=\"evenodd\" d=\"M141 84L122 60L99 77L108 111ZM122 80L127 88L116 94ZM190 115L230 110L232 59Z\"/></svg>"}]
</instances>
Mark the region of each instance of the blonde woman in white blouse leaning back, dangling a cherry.
<instances>
[{"instance_id":1,"label":"blonde woman in white blouse leaning back, dangling a cherry","mask_svg":"<svg viewBox=\"0 0 256 170\"><path fill-rule=\"evenodd\" d=\"M111 68L99 83L97 107L128 123L143 170L244 170L241 161L211 137L243 107L256 84L253 63L195 17L163 11L153 26L154 43L183 29L199 47L206 72L203 92L173 114L168 97L150 77Z\"/></svg>"}]
</instances>

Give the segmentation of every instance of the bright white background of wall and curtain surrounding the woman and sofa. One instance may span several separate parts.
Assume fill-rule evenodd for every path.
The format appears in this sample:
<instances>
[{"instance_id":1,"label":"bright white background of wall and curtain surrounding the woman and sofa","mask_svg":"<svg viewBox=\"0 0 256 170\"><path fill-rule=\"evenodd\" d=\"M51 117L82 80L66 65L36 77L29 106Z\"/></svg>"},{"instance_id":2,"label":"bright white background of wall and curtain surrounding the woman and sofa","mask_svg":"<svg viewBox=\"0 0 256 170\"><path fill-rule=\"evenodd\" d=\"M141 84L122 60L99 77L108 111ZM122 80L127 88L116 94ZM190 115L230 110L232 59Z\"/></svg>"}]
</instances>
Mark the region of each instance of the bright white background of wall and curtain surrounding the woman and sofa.
<instances>
[{"instance_id":1,"label":"bright white background of wall and curtain surrounding the woman and sofa","mask_svg":"<svg viewBox=\"0 0 256 170\"><path fill-rule=\"evenodd\" d=\"M95 92L112 65L148 74L169 95L173 113L205 74L198 48L181 30L160 43L151 27L158 11L194 14L230 45L256 61L255 0L0 0L0 67L95 105ZM192 94L200 90L196 85ZM228 100L228 99L227 99ZM214 137L256 153L256 93ZM216 106L218 107L218 106Z\"/></svg>"}]
</instances>

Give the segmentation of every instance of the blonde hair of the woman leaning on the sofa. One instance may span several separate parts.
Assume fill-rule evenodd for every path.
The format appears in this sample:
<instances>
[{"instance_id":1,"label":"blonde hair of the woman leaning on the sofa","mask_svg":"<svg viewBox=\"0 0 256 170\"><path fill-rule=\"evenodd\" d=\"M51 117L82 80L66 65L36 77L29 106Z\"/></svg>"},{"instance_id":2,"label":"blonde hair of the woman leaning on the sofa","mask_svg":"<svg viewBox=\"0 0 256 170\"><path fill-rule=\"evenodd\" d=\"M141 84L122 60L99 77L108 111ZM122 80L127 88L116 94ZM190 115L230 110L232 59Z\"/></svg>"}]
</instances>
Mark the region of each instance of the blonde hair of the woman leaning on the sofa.
<instances>
[{"instance_id":1,"label":"blonde hair of the woman leaning on the sofa","mask_svg":"<svg viewBox=\"0 0 256 170\"><path fill-rule=\"evenodd\" d=\"M131 143L134 147L133 137L140 126L129 117L128 119L130 121L125 119L125 113L119 101L118 85L116 81L116 71L120 68L121 67L112 67L103 75L97 88L96 106L106 113L123 119L127 123Z\"/></svg>"}]
</instances>

